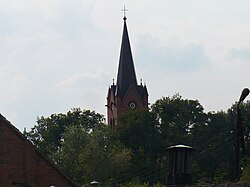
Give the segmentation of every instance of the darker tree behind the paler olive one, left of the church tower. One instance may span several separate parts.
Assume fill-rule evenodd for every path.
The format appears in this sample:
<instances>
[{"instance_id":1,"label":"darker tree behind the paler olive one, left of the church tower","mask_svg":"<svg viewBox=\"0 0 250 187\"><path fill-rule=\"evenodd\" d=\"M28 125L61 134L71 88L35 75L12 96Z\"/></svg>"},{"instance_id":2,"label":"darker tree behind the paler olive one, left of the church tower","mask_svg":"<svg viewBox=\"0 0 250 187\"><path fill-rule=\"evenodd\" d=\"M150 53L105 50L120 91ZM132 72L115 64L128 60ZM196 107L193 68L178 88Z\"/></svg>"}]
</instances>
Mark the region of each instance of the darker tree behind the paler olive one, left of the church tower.
<instances>
[{"instance_id":1,"label":"darker tree behind the paler olive one, left of the church tower","mask_svg":"<svg viewBox=\"0 0 250 187\"><path fill-rule=\"evenodd\" d=\"M53 159L52 155L60 149L63 134L68 127L77 126L89 132L96 126L103 125L103 120L103 115L94 111L73 108L67 114L37 118L37 124L24 134L40 151Z\"/></svg>"}]
</instances>

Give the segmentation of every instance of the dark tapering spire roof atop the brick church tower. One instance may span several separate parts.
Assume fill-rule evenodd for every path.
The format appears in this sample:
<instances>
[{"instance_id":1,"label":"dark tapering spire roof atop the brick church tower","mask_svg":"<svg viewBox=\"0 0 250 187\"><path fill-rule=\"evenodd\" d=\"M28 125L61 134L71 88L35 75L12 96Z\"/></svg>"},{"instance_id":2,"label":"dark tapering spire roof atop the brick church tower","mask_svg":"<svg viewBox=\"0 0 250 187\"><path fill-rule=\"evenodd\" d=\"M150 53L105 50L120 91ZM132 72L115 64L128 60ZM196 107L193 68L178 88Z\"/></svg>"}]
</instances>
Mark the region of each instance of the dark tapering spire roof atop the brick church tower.
<instances>
[{"instance_id":1,"label":"dark tapering spire roof atop the brick church tower","mask_svg":"<svg viewBox=\"0 0 250 187\"><path fill-rule=\"evenodd\" d=\"M123 18L123 35L117 76L117 95L124 97L130 85L137 86L134 62L129 42L126 17Z\"/></svg>"}]
</instances>

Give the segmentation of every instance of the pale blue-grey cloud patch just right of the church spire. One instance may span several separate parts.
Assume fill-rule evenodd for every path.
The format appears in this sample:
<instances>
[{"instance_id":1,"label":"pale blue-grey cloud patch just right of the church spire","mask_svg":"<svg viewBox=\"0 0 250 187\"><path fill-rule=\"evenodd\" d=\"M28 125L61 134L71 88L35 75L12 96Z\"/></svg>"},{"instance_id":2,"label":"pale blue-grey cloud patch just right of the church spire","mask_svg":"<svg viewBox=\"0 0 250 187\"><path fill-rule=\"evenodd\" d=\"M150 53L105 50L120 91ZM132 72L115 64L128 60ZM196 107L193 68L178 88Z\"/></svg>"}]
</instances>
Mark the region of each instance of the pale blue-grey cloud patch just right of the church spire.
<instances>
[{"instance_id":1,"label":"pale blue-grey cloud patch just right of the church spire","mask_svg":"<svg viewBox=\"0 0 250 187\"><path fill-rule=\"evenodd\" d=\"M209 63L200 44L162 47L157 40L146 37L139 40L136 57L143 66L174 73L193 72Z\"/></svg>"}]
</instances>

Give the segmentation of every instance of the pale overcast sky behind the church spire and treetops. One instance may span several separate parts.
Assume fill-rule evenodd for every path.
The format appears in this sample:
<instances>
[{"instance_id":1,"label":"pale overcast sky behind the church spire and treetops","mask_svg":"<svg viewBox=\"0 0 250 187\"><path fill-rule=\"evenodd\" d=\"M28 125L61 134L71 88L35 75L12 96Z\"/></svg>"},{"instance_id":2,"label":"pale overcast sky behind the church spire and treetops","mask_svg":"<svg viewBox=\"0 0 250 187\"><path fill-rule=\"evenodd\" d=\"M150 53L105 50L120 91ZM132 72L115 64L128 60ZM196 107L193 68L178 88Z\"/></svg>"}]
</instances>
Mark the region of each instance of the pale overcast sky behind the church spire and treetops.
<instances>
[{"instance_id":1,"label":"pale overcast sky behind the church spire and treetops","mask_svg":"<svg viewBox=\"0 0 250 187\"><path fill-rule=\"evenodd\" d=\"M21 131L74 107L106 115L124 4L150 103L227 110L249 86L249 0L0 0L0 113Z\"/></svg>"}]
</instances>

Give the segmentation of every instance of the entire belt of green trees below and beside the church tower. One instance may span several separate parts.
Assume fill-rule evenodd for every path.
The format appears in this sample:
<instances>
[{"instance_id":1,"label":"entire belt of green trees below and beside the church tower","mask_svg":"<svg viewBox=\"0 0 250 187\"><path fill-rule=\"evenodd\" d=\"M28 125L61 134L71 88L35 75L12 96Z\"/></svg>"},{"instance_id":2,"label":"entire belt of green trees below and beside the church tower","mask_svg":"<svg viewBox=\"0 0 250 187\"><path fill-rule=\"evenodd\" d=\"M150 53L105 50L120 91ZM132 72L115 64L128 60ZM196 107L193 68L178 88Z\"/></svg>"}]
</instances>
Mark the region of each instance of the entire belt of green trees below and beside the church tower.
<instances>
[{"instance_id":1,"label":"entire belt of green trees below and beside the church tower","mask_svg":"<svg viewBox=\"0 0 250 187\"><path fill-rule=\"evenodd\" d=\"M167 147L193 146L193 181L199 184L233 180L235 117L226 112L205 113L197 100L179 94L157 100L148 110L129 111L116 131L103 115L72 109L67 114L38 118L25 135L77 184L97 180L101 186L162 186L168 172ZM250 154L250 102L241 104L246 155ZM241 181L249 181L249 159Z\"/></svg>"}]
</instances>

